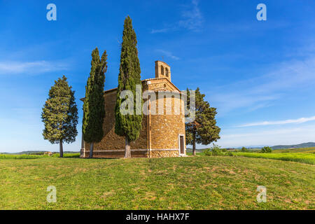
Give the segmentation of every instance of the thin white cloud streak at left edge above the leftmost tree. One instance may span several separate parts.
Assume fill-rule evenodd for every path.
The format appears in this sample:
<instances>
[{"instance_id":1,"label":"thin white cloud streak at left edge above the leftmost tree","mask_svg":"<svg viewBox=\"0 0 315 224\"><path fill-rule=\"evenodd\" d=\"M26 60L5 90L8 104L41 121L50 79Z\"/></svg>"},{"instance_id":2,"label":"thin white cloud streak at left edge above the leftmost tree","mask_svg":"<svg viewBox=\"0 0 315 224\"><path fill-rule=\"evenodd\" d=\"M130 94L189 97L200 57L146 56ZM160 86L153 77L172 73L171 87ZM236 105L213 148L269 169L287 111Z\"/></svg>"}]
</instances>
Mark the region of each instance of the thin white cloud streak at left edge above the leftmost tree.
<instances>
[{"instance_id":1,"label":"thin white cloud streak at left edge above the leftmost tree","mask_svg":"<svg viewBox=\"0 0 315 224\"><path fill-rule=\"evenodd\" d=\"M3 61L0 62L0 74L16 74L16 73L45 73L49 71L66 70L68 66L64 62L18 62L18 61Z\"/></svg>"}]
</instances>

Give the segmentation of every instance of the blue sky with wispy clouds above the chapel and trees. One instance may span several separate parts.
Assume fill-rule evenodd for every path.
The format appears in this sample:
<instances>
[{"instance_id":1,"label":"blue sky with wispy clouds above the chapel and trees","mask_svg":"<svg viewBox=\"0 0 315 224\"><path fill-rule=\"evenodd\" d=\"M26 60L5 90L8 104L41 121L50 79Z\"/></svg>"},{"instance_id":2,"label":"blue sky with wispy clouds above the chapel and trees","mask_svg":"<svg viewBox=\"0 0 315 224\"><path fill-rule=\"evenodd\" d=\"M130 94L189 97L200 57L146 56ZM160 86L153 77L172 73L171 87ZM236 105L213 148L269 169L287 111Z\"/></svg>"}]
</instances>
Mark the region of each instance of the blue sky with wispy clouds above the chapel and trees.
<instances>
[{"instance_id":1,"label":"blue sky with wispy clouds above the chapel and trees","mask_svg":"<svg viewBox=\"0 0 315 224\"><path fill-rule=\"evenodd\" d=\"M46 19L55 3L57 21ZM256 19L265 3L267 21ZM43 140L41 108L54 80L69 78L79 108L91 52L107 50L105 88L117 86L127 15L141 77L155 60L181 90L200 87L218 110L223 147L315 141L313 0L0 1L0 151L57 151ZM80 149L77 141L65 151Z\"/></svg>"}]
</instances>

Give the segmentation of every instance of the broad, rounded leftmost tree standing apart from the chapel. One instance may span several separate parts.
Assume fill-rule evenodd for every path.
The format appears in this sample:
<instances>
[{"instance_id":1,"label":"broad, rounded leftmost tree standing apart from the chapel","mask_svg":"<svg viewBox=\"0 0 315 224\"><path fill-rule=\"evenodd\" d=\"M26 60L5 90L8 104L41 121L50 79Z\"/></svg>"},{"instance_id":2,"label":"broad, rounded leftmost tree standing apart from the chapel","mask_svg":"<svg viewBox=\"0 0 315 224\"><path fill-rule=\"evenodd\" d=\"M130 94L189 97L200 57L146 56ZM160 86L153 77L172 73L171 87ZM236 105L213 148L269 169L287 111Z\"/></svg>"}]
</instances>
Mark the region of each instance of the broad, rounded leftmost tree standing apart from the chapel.
<instances>
[{"instance_id":1,"label":"broad, rounded leftmost tree standing apart from the chapel","mask_svg":"<svg viewBox=\"0 0 315 224\"><path fill-rule=\"evenodd\" d=\"M43 137L51 144L59 144L60 157L64 154L62 144L76 141L78 134L78 108L71 88L66 76L58 78L49 90L49 97L41 113L45 125Z\"/></svg>"}]
</instances>

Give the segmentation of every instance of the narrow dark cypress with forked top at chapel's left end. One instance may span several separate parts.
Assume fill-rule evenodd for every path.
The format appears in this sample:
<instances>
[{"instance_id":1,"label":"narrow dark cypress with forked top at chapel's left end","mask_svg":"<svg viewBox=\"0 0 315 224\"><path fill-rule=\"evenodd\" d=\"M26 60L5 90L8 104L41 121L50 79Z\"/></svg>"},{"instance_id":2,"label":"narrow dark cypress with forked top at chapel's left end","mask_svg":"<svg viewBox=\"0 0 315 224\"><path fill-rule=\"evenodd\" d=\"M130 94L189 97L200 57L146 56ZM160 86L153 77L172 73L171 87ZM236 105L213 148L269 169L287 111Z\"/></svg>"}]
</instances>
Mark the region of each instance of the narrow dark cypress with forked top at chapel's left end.
<instances>
[{"instance_id":1,"label":"narrow dark cypress with forked top at chapel's left end","mask_svg":"<svg viewBox=\"0 0 315 224\"><path fill-rule=\"evenodd\" d=\"M102 140L105 117L104 82L107 70L107 55L104 51L99 59L99 50L92 51L90 77L85 86L83 103L83 139L90 143L90 158L93 157L94 143Z\"/></svg>"}]
</instances>

